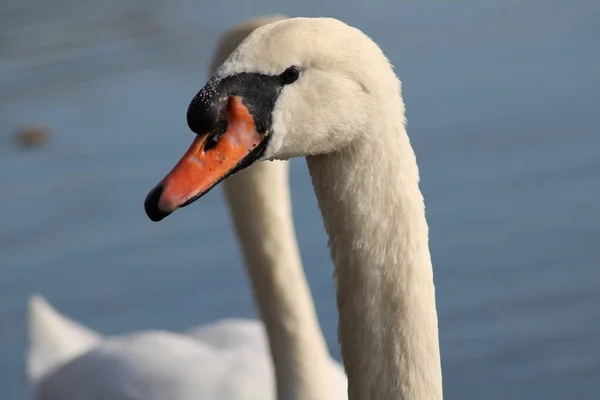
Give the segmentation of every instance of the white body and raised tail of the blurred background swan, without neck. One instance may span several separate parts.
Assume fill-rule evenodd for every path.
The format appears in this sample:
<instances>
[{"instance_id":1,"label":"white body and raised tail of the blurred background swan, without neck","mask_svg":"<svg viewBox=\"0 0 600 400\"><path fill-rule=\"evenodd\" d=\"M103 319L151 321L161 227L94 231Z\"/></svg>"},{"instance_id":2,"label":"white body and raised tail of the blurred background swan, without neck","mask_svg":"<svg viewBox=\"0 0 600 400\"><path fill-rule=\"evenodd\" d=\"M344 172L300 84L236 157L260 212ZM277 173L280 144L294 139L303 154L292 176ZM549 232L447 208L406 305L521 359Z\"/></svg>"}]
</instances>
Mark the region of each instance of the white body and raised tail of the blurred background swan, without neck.
<instances>
[{"instance_id":1,"label":"white body and raised tail of the blurred background swan, without neck","mask_svg":"<svg viewBox=\"0 0 600 400\"><path fill-rule=\"evenodd\" d=\"M222 320L183 334L157 330L105 338L93 333L96 344L66 352L61 343L84 342L91 331L40 296L30 300L29 315L30 327L46 334L45 343L33 341L29 352L37 399L275 399L274 385L265 386L273 366L258 321ZM63 326L54 324L59 321ZM37 366L40 360L47 370Z\"/></svg>"}]
</instances>

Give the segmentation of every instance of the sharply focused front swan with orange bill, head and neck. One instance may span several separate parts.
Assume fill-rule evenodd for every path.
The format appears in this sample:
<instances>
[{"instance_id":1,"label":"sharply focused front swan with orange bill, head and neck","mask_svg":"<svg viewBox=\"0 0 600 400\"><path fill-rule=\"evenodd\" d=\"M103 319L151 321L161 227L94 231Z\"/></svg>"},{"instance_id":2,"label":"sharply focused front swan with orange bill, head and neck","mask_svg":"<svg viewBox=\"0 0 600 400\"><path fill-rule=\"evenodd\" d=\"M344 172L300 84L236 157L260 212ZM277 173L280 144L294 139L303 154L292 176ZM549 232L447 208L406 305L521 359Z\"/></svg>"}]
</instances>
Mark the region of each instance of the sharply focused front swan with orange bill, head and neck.
<instances>
[{"instance_id":1,"label":"sharply focused front swan with orange bill, head and neck","mask_svg":"<svg viewBox=\"0 0 600 400\"><path fill-rule=\"evenodd\" d=\"M439 400L424 199L401 85L380 47L332 18L250 34L192 99L189 150L145 199L160 221L264 160L305 157L329 236L350 400Z\"/></svg>"}]
</instances>

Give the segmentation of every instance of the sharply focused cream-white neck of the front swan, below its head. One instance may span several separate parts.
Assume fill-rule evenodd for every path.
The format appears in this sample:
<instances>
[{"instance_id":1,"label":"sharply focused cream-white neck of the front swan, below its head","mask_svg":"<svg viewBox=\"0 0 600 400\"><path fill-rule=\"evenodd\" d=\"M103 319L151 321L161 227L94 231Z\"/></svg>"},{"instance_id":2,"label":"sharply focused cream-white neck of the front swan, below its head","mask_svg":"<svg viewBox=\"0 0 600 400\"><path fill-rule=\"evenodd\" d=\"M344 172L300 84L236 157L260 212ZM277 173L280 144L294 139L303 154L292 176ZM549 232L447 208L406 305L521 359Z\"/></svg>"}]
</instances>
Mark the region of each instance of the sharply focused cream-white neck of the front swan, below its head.
<instances>
[{"instance_id":1,"label":"sharply focused cream-white neck of the front swan, below its head","mask_svg":"<svg viewBox=\"0 0 600 400\"><path fill-rule=\"evenodd\" d=\"M349 399L440 400L418 167L402 119L391 119L375 121L365 140L307 163L335 264Z\"/></svg>"}]
</instances>

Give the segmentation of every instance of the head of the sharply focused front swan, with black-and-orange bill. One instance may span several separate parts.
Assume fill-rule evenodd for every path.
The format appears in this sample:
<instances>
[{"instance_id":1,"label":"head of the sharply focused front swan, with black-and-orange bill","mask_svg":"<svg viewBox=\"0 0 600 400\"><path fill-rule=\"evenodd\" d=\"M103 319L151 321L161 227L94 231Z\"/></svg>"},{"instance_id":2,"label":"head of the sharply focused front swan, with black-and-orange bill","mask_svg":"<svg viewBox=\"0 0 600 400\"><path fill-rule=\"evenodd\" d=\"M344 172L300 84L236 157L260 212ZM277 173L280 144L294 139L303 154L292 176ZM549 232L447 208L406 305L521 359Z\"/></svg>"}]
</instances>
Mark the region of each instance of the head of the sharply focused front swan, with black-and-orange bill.
<instances>
[{"instance_id":1,"label":"head of the sharply focused front swan, with black-and-orange bill","mask_svg":"<svg viewBox=\"0 0 600 400\"><path fill-rule=\"evenodd\" d=\"M382 113L402 118L403 107L390 63L360 30L332 18L259 27L191 101L197 137L146 197L146 214L160 221L257 161L375 140Z\"/></svg>"}]
</instances>

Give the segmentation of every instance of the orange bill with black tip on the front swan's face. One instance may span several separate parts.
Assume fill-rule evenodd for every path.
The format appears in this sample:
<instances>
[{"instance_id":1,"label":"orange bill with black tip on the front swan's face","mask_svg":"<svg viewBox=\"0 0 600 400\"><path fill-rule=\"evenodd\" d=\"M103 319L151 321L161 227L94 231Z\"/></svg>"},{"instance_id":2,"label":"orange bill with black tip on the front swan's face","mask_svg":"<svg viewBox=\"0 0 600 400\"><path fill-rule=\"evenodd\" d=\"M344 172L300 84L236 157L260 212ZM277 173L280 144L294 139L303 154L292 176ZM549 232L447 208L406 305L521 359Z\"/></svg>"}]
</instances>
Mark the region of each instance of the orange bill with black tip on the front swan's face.
<instances>
[{"instance_id":1,"label":"orange bill with black tip on the front swan's face","mask_svg":"<svg viewBox=\"0 0 600 400\"><path fill-rule=\"evenodd\" d=\"M216 144L211 134L198 136L171 172L148 193L144 207L152 221L193 203L260 155L257 153L265 136L257 132L254 118L239 97L229 97L226 121L227 129Z\"/></svg>"}]
</instances>

